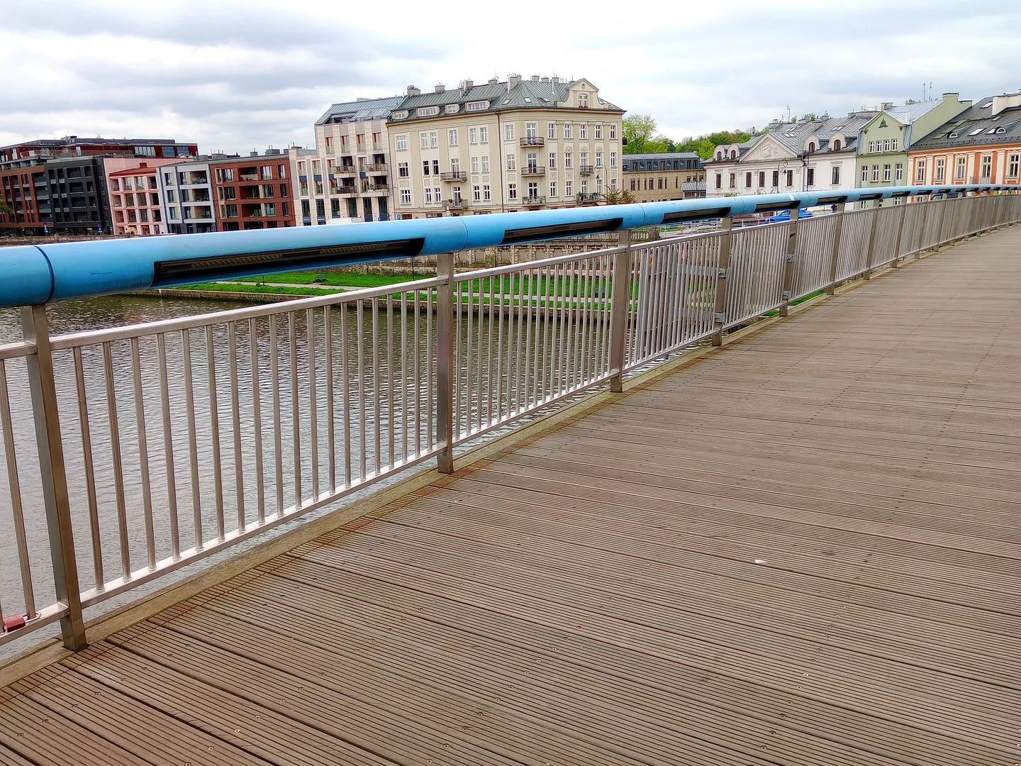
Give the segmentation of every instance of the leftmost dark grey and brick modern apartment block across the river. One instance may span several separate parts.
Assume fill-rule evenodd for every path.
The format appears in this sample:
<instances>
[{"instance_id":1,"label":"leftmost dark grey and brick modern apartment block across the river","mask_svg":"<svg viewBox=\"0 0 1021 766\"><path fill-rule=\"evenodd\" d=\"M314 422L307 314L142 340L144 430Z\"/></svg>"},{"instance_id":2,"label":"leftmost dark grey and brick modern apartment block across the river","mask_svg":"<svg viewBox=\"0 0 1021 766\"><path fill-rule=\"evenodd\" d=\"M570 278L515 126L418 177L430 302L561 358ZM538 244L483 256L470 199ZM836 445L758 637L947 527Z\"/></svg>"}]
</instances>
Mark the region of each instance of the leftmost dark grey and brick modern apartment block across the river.
<instances>
[{"instance_id":1,"label":"leftmost dark grey and brick modern apartment block across the river","mask_svg":"<svg viewBox=\"0 0 1021 766\"><path fill-rule=\"evenodd\" d=\"M77 136L0 147L0 197L14 210L0 213L0 231L109 232L104 157L169 158L193 155L197 149L174 139Z\"/></svg>"}]
</instances>

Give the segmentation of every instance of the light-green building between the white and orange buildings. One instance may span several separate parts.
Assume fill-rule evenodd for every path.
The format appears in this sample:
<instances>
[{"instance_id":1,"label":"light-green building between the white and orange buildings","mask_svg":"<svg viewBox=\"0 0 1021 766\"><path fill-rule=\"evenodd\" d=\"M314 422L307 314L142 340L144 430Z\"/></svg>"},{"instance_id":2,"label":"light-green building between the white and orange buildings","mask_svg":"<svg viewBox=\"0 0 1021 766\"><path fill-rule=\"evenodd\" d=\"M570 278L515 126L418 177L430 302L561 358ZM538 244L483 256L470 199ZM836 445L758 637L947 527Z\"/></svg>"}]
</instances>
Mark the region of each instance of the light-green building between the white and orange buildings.
<instances>
[{"instance_id":1,"label":"light-green building between the white and orange buildings","mask_svg":"<svg viewBox=\"0 0 1021 766\"><path fill-rule=\"evenodd\" d=\"M903 106L884 103L859 135L855 185L909 185L908 149L971 106L971 101L961 101L958 96L944 93L941 99Z\"/></svg>"}]
</instances>

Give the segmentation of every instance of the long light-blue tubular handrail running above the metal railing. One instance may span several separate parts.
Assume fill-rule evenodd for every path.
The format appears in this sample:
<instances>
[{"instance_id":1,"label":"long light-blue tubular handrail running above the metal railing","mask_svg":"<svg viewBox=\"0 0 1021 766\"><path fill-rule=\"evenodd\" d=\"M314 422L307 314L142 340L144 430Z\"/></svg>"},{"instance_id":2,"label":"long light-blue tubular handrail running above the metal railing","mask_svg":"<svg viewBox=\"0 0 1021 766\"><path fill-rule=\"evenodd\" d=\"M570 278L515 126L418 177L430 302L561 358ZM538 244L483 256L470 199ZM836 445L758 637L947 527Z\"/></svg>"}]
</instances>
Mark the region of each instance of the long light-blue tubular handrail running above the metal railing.
<instances>
[{"instance_id":1,"label":"long light-blue tubular handrail running above the metal railing","mask_svg":"<svg viewBox=\"0 0 1021 766\"><path fill-rule=\"evenodd\" d=\"M1005 191L894 186L0 247L0 306L540 242L862 199Z\"/></svg>"}]
</instances>

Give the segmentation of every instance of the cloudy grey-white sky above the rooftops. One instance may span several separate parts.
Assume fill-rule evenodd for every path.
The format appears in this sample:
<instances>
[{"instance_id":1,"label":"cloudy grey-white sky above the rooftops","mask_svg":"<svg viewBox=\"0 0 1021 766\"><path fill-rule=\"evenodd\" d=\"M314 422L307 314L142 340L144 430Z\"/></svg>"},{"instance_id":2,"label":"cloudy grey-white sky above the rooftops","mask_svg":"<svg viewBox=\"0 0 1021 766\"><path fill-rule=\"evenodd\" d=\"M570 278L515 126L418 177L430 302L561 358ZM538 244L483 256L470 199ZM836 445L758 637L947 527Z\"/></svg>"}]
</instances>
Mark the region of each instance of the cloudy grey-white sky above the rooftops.
<instances>
[{"instance_id":1,"label":"cloudy grey-white sky above the rooftops","mask_svg":"<svg viewBox=\"0 0 1021 766\"><path fill-rule=\"evenodd\" d=\"M491 8L491 10L490 10ZM584 77L680 140L945 91L1021 89L1021 2L0 0L0 145L308 146L331 103L510 73Z\"/></svg>"}]
</instances>

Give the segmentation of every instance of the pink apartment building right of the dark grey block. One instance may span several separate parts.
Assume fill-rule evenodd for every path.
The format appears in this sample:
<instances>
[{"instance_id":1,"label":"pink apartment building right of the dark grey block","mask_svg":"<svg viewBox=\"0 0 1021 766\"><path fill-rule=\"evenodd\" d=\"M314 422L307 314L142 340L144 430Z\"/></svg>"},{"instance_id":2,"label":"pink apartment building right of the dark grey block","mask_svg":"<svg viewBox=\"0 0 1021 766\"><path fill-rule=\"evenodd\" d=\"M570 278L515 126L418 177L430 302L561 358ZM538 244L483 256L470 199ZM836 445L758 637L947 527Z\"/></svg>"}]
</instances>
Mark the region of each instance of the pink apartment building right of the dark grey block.
<instances>
[{"instance_id":1,"label":"pink apartment building right of the dark grey block","mask_svg":"<svg viewBox=\"0 0 1021 766\"><path fill-rule=\"evenodd\" d=\"M110 200L113 234L166 234L162 199L159 194L159 169L175 164L169 157L139 161L129 157L104 157L103 172Z\"/></svg>"}]
</instances>

